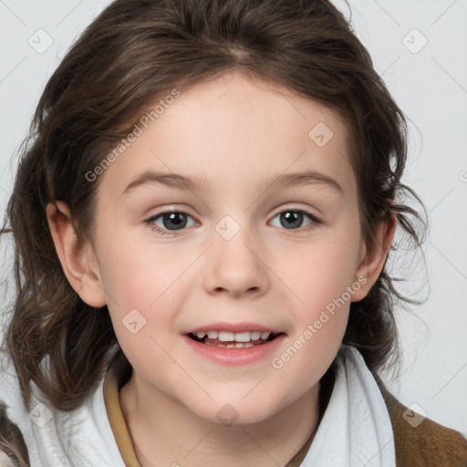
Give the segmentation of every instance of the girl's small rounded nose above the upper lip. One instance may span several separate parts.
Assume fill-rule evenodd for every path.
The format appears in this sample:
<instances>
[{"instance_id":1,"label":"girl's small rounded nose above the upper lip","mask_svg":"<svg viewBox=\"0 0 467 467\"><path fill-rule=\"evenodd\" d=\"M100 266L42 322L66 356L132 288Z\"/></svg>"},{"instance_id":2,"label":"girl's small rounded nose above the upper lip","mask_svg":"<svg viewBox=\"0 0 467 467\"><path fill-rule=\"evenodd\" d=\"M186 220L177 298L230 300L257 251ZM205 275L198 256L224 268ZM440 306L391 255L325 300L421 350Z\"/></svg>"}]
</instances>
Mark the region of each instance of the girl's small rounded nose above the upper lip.
<instances>
[{"instance_id":1,"label":"girl's small rounded nose above the upper lip","mask_svg":"<svg viewBox=\"0 0 467 467\"><path fill-rule=\"evenodd\" d=\"M265 249L242 228L226 240L213 233L206 252L203 285L209 294L262 296L269 287Z\"/></svg>"}]
</instances>

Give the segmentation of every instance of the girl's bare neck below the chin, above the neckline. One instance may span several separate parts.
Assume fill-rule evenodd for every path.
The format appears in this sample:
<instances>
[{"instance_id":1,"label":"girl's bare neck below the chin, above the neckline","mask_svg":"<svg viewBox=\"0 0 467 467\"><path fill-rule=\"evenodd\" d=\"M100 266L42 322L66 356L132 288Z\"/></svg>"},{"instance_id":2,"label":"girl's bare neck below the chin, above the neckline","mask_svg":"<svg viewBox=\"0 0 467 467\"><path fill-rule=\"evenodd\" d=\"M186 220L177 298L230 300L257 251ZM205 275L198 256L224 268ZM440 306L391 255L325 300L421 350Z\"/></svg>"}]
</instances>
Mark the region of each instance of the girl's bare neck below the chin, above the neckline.
<instances>
[{"instance_id":1,"label":"girl's bare neck below the chin, above the neckline","mask_svg":"<svg viewBox=\"0 0 467 467\"><path fill-rule=\"evenodd\" d=\"M119 399L141 467L286 465L317 431L323 411L319 389L318 382L266 420L231 425L202 419L166 394L146 389L134 374Z\"/></svg>"}]
</instances>

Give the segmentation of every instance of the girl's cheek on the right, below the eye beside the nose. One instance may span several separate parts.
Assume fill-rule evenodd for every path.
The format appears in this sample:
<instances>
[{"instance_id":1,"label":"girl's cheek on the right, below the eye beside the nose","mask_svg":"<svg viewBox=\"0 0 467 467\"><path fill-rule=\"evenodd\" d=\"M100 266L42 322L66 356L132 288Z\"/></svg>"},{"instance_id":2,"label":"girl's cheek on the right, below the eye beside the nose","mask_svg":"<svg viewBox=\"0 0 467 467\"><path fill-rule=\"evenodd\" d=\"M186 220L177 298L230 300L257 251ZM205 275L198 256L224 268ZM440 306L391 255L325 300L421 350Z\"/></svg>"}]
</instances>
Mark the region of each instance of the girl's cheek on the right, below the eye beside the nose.
<instances>
[{"instance_id":1,"label":"girl's cheek on the right, below the eye beside the nose","mask_svg":"<svg viewBox=\"0 0 467 467\"><path fill-rule=\"evenodd\" d=\"M343 223L342 228L323 233L315 244L288 255L284 275L289 277L287 285L296 296L291 314L298 324L296 346L304 348L304 356L311 358L316 352L322 357L332 356L344 336L350 291L360 288L355 277L358 229L358 225ZM302 364L306 365L306 361L302 360ZM327 363L330 361L332 358Z\"/></svg>"}]
</instances>

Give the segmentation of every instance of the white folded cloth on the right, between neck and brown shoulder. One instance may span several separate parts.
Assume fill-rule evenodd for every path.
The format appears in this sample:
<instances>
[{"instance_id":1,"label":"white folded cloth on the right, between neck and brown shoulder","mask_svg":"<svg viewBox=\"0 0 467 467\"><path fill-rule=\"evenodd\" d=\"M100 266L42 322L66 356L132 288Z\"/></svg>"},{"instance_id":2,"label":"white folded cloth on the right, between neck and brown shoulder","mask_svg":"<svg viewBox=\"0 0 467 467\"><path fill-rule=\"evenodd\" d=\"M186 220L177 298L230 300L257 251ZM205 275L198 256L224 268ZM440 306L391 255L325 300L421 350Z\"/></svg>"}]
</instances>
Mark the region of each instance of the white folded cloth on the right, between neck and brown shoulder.
<instances>
[{"instance_id":1,"label":"white folded cloth on the right, between neck and brown shoulder","mask_svg":"<svg viewBox=\"0 0 467 467\"><path fill-rule=\"evenodd\" d=\"M394 467L389 412L356 348L341 346L327 409L301 467Z\"/></svg>"}]
</instances>

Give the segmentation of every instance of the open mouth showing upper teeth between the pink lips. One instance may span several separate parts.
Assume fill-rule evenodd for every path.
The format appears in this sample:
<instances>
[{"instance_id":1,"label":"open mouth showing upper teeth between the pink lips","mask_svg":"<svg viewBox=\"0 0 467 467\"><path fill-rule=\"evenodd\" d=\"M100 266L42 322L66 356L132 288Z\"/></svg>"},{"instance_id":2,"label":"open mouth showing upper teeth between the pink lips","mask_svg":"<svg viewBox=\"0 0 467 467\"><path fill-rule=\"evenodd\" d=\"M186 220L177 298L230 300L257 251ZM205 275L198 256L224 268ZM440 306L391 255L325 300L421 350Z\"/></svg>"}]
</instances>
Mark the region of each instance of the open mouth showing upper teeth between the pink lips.
<instances>
[{"instance_id":1,"label":"open mouth showing upper teeth between the pink lips","mask_svg":"<svg viewBox=\"0 0 467 467\"><path fill-rule=\"evenodd\" d=\"M285 335L284 332L272 333L267 331L244 331L237 333L227 331L199 331L196 333L190 332L186 336L190 337L195 342L207 346L219 348L253 348L265 345L283 335Z\"/></svg>"}]
</instances>

